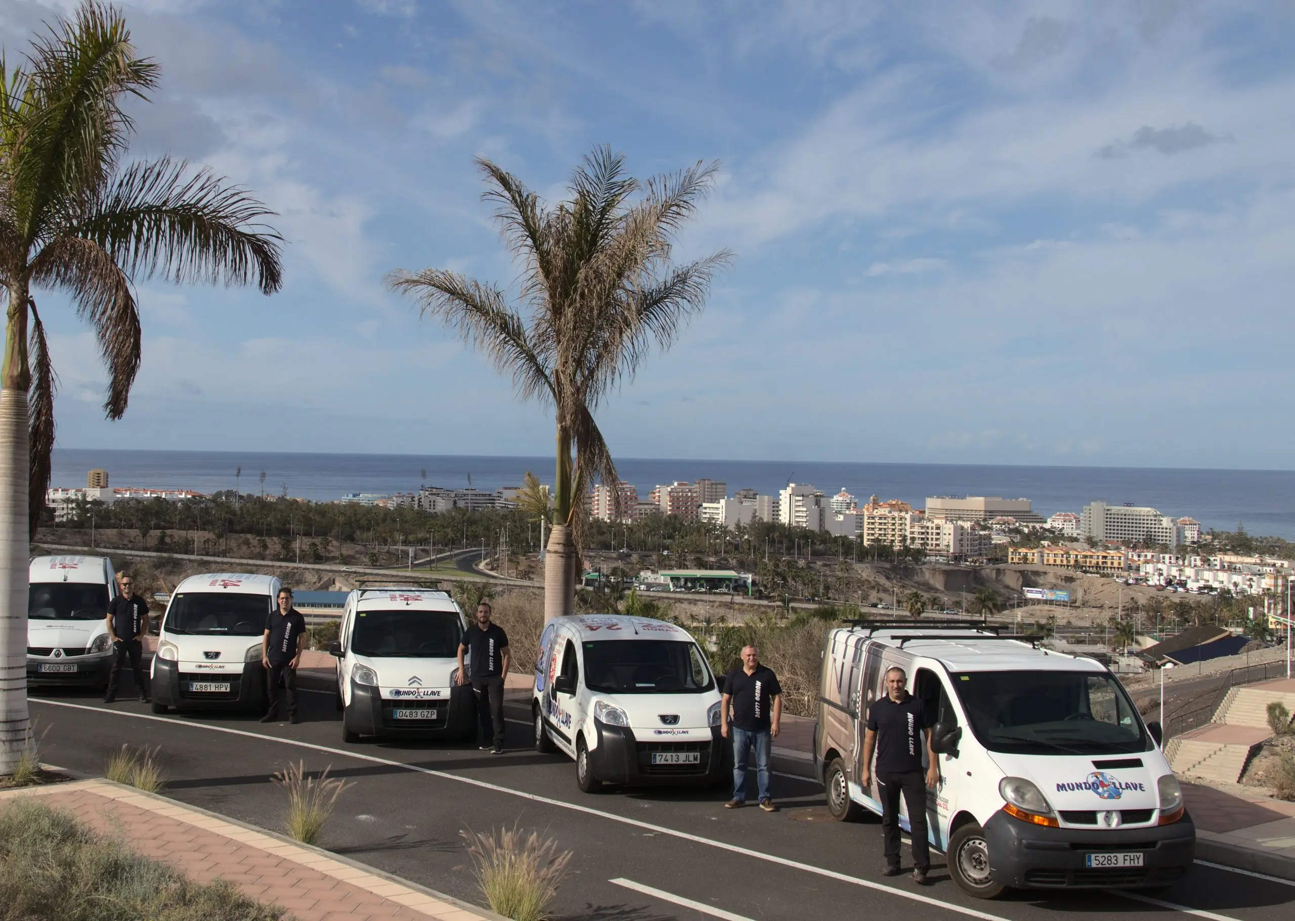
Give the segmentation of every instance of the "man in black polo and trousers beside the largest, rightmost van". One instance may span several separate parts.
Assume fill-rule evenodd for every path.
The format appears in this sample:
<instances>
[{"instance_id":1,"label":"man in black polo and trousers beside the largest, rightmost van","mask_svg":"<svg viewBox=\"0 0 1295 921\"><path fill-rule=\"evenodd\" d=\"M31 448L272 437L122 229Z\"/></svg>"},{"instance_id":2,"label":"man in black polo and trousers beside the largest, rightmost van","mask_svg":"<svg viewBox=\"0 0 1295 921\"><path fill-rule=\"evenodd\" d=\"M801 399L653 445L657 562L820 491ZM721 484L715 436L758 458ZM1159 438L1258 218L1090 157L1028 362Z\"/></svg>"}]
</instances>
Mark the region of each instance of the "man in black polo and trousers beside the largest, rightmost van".
<instances>
[{"instance_id":1,"label":"man in black polo and trousers beside the largest, rightmost van","mask_svg":"<svg viewBox=\"0 0 1295 921\"><path fill-rule=\"evenodd\" d=\"M877 750L877 789L882 799L882 839L886 876L899 876L899 797L908 804L908 825L913 838L913 881L926 883L931 868L931 847L926 839L926 788L940 784L940 767L931 751L931 725L921 698L908 693L908 676L900 667L886 672L886 696L868 707L864 734L864 789L872 784L869 769ZM922 773L922 751L926 773Z\"/></svg>"}]
</instances>

